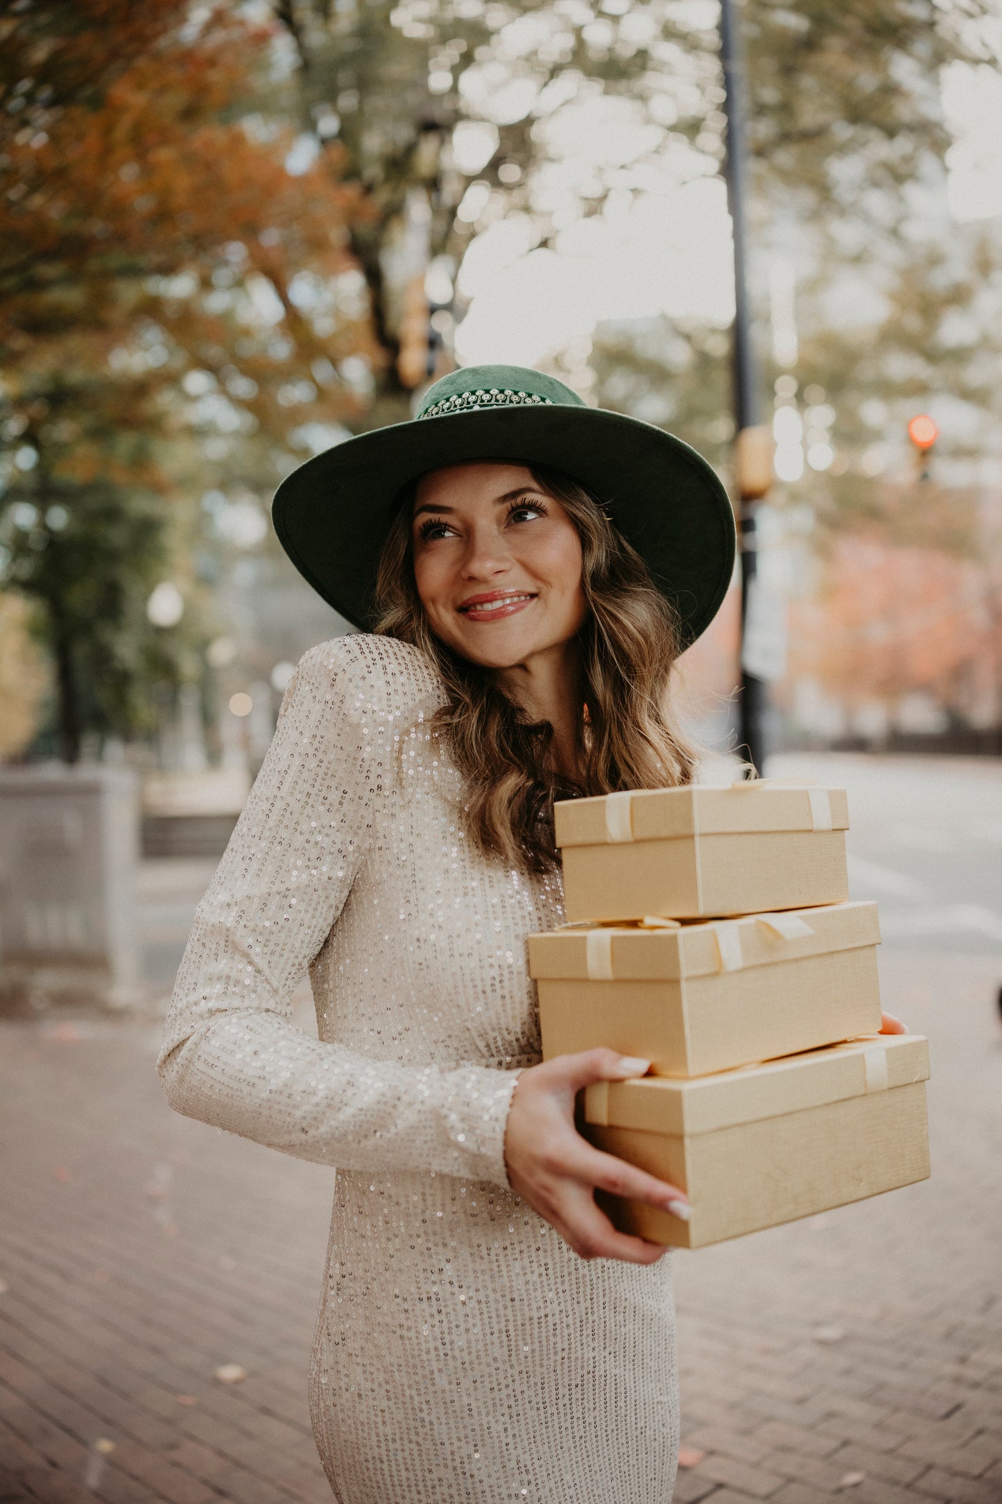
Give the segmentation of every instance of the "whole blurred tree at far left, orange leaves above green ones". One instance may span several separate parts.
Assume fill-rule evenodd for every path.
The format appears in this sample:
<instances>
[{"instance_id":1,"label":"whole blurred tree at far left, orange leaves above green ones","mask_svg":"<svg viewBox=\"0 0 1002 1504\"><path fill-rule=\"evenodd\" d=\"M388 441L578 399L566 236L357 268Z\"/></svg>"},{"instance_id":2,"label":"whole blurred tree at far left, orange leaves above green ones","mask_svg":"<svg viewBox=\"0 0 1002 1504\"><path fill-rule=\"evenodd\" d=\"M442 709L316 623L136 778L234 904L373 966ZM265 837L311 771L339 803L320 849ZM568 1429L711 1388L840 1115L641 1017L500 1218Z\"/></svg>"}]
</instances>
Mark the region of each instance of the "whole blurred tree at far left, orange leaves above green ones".
<instances>
[{"instance_id":1,"label":"whole blurred tree at far left, orange leaves above green ones","mask_svg":"<svg viewBox=\"0 0 1002 1504\"><path fill-rule=\"evenodd\" d=\"M359 412L353 361L379 352L347 248L359 190L332 162L290 161L293 132L258 108L272 29L180 0L14 9L0 23L6 582L39 606L75 761L84 731L147 729L155 686L198 674L197 612L158 624L146 609L173 572L189 605L195 588L171 460L197 478L239 439L269 484L296 435L311 451L312 430Z\"/></svg>"}]
</instances>

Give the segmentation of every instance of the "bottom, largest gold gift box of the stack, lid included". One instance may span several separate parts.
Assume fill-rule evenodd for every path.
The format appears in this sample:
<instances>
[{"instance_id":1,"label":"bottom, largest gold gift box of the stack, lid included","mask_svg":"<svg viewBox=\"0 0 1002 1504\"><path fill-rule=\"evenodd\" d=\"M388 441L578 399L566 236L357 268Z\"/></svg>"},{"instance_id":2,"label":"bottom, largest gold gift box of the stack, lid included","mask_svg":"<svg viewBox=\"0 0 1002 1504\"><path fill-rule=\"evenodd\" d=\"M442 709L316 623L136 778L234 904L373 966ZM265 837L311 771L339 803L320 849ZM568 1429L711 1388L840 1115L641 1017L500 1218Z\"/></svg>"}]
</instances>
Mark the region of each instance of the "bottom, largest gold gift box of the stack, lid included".
<instances>
[{"instance_id":1,"label":"bottom, largest gold gift box of the stack, lid included","mask_svg":"<svg viewBox=\"0 0 1002 1504\"><path fill-rule=\"evenodd\" d=\"M685 1191L688 1223L599 1197L623 1232L700 1248L928 1178L927 1041L886 1035L688 1081L599 1081L583 1131Z\"/></svg>"}]
</instances>

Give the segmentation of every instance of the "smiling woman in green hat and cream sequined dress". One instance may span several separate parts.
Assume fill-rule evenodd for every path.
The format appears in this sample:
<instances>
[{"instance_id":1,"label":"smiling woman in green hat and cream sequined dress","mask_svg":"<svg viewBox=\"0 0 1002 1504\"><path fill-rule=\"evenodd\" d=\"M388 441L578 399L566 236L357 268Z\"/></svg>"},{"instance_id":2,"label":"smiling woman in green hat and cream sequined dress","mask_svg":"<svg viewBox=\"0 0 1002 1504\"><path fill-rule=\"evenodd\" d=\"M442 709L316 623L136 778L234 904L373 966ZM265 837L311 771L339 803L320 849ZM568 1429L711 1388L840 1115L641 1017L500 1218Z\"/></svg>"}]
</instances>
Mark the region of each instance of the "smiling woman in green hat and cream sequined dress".
<instances>
[{"instance_id":1,"label":"smiling woman in green hat and cream sequined dress","mask_svg":"<svg viewBox=\"0 0 1002 1504\"><path fill-rule=\"evenodd\" d=\"M647 1062L538 1063L524 942L563 917L554 797L691 775L664 690L730 581L727 498L669 435L473 367L302 466L275 523L376 635L290 684L168 1099L338 1169L311 1406L341 1504L667 1504L670 1266L593 1191L685 1197L577 1134L575 1093ZM288 1023L306 967L318 1041Z\"/></svg>"}]
</instances>

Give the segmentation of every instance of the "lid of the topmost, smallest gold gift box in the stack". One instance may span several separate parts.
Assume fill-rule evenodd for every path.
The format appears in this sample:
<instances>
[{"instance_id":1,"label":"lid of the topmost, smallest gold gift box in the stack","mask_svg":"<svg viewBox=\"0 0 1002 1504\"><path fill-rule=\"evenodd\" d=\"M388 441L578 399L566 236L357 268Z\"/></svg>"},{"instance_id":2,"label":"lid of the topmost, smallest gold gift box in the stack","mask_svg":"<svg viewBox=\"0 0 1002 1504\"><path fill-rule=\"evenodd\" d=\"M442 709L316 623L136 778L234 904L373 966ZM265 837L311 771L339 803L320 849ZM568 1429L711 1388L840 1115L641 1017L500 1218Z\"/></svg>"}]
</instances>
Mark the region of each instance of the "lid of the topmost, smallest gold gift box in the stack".
<instances>
[{"instance_id":1,"label":"lid of the topmost, smallest gold gift box in the stack","mask_svg":"<svg viewBox=\"0 0 1002 1504\"><path fill-rule=\"evenodd\" d=\"M688 785L562 799L553 809L559 847L759 830L849 829L844 788L768 779L730 788Z\"/></svg>"}]
</instances>

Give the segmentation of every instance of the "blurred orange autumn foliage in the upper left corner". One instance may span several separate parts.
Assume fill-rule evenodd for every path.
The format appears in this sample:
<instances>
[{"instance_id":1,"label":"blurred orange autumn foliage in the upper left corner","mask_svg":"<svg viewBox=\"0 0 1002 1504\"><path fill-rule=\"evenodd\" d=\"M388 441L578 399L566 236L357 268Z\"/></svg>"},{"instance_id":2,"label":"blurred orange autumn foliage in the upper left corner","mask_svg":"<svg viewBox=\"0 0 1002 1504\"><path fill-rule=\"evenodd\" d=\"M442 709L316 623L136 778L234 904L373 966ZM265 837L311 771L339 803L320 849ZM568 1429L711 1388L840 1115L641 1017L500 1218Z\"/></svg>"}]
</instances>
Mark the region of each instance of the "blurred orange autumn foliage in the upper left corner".
<instances>
[{"instance_id":1,"label":"blurred orange autumn foliage in the upper left corner","mask_svg":"<svg viewBox=\"0 0 1002 1504\"><path fill-rule=\"evenodd\" d=\"M0 349L9 362L65 368L66 340L75 340L71 364L87 353L96 361L143 317L168 323L179 358L231 362L237 331L204 295L233 247L240 280L263 277L278 296L293 364L370 349L364 314L318 334L290 298L296 272L330 277L352 265L346 221L365 214L358 190L337 182L329 155L290 176L288 129L248 119L267 29L228 8L197 23L191 15L177 0L83 0L2 23ZM240 368L249 364L258 385L285 378L288 352L276 358L273 341L254 346L242 332ZM164 371L176 374L176 364ZM350 414L358 400L341 391L320 406ZM284 421L267 384L251 411Z\"/></svg>"}]
</instances>

